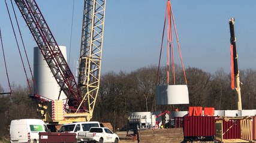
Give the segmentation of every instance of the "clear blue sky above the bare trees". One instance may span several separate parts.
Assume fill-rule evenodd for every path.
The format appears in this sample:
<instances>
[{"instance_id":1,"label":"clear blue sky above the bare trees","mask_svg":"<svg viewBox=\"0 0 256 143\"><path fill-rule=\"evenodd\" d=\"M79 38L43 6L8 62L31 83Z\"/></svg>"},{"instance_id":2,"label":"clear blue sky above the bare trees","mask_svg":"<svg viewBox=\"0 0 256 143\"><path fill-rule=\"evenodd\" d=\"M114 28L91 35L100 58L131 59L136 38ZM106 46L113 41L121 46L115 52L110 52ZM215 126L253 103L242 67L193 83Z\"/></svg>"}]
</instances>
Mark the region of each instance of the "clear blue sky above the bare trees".
<instances>
[{"instance_id":1,"label":"clear blue sky above the bare trees","mask_svg":"<svg viewBox=\"0 0 256 143\"><path fill-rule=\"evenodd\" d=\"M166 2L166 0L106 0L102 73L112 70L129 72L150 64L158 64ZM37 3L58 45L67 46L67 51L70 51L73 0L37 0ZM8 4L10 6L10 1ZM171 5L185 67L198 67L212 73L220 68L226 72L230 71L228 19L234 17L239 69L256 69L254 56L256 1L173 0ZM79 58L83 0L75 0L74 7L71 69L74 68L74 61ZM32 64L33 47L36 43L19 11L17 14ZM0 26L10 80L25 85L26 79L4 0L0 1ZM177 51L177 47L174 50ZM164 55L165 53L164 49ZM0 84L7 87L2 50L0 55ZM162 57L162 65L165 63L165 57ZM180 64L180 61L176 60L176 63Z\"/></svg>"}]
</instances>

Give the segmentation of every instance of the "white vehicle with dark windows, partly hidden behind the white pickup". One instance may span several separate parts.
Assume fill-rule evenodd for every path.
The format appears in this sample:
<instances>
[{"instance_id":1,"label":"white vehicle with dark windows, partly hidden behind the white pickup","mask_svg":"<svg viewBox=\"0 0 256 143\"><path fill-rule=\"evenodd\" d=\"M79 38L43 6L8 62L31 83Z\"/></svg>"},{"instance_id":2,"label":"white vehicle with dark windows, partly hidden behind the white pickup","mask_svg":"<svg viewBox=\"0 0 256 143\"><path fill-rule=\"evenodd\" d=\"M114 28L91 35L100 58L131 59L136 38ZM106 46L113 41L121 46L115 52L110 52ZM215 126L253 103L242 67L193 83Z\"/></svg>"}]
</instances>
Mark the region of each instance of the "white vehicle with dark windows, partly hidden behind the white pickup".
<instances>
[{"instance_id":1,"label":"white vehicle with dark windows, partly hidden behind the white pickup","mask_svg":"<svg viewBox=\"0 0 256 143\"><path fill-rule=\"evenodd\" d=\"M100 127L100 122L77 122L64 124L61 126L61 129L59 129L59 132L89 132L91 127Z\"/></svg>"}]
</instances>

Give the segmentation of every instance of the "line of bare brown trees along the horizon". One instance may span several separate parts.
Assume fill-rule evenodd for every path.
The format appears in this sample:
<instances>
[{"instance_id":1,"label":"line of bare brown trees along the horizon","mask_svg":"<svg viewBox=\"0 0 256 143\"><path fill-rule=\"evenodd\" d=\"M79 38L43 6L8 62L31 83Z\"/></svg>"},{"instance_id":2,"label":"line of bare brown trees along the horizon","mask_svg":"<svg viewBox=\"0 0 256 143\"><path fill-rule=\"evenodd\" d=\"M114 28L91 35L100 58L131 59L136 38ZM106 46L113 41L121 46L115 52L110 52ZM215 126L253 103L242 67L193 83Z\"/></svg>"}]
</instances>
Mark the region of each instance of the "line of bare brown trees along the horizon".
<instances>
[{"instance_id":1,"label":"line of bare brown trees along the horizon","mask_svg":"<svg viewBox=\"0 0 256 143\"><path fill-rule=\"evenodd\" d=\"M131 111L180 111L189 106L215 107L215 110L235 110L236 92L230 88L230 73L219 69L208 73L195 67L185 70L188 82L189 105L156 105L156 85L167 85L166 67L149 66L131 71L104 73L92 120L110 122L114 129L127 125ZM185 84L183 70L176 66L176 85ZM173 84L170 76L170 84ZM243 109L256 108L256 70L240 71ZM4 92L0 85L0 92ZM0 95L0 138L9 138L9 125L13 119L40 118L36 107L28 98L28 87L13 85L13 94Z\"/></svg>"}]
</instances>

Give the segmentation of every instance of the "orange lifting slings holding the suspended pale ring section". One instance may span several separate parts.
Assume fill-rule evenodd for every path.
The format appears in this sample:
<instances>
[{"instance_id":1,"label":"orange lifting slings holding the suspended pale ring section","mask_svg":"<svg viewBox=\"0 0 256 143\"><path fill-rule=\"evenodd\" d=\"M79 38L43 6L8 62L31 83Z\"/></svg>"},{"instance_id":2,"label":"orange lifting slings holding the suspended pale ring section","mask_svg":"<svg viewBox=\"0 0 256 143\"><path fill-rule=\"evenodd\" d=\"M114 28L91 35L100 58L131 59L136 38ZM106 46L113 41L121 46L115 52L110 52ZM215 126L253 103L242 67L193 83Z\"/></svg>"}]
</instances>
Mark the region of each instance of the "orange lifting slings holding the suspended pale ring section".
<instances>
[{"instance_id":1,"label":"orange lifting slings holding the suspended pale ring section","mask_svg":"<svg viewBox=\"0 0 256 143\"><path fill-rule=\"evenodd\" d=\"M172 30L171 30L171 20L172 20L173 21L174 32L175 32L176 40L177 40L177 46L178 46L178 49L179 49L180 61L182 63L183 74L184 74L185 82L186 82L186 85L187 85L188 83L187 83L187 80L186 80L185 68L184 68L184 64L183 64L183 60L182 60L182 55L181 55L181 51L180 51L179 39L178 39L178 36L177 36L177 30L176 30L176 25L175 25L175 21L174 21L173 11L171 9L170 0L167 1L167 6L166 6L166 10L165 10L164 29L165 29L166 18L168 18L167 19L168 20L167 21L167 25L168 25L168 31L167 31L167 39L168 39L168 42L167 42L167 83L169 84L169 69L170 69L170 65L169 65L170 64L170 60L169 60L170 59L170 55L169 55L170 51L169 51L169 49L171 48L173 83L175 85L175 66L174 66L174 52L173 52L173 35L172 35ZM164 39L164 30L162 32L162 42L161 42L161 50L160 50L160 56L159 56L159 62L158 62L158 74L157 74L157 76L159 76L159 67L160 67L163 39Z\"/></svg>"}]
</instances>

